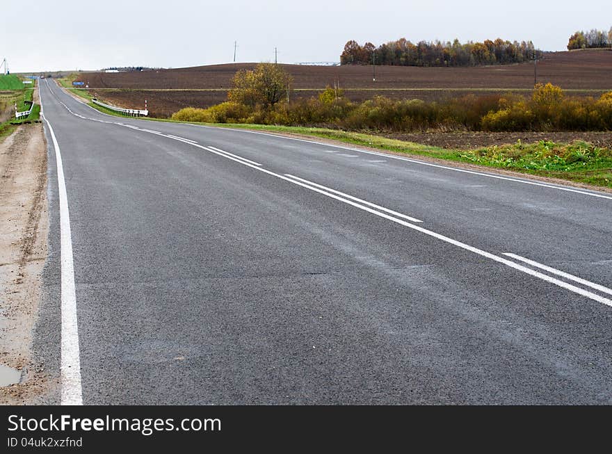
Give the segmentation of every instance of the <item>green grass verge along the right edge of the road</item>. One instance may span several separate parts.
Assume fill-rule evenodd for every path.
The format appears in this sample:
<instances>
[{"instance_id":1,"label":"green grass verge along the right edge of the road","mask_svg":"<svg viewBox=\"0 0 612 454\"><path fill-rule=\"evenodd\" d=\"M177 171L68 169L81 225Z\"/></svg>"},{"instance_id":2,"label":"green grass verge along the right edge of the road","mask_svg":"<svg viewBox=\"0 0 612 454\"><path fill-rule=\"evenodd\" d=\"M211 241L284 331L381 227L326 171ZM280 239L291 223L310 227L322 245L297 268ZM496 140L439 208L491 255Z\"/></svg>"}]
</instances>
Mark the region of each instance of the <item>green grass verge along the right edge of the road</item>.
<instances>
[{"instance_id":1,"label":"green grass verge along the right edge of the road","mask_svg":"<svg viewBox=\"0 0 612 454\"><path fill-rule=\"evenodd\" d=\"M75 94L90 101L92 96L88 90L71 89ZM120 116L113 111L96 104L89 104L103 113ZM143 120L190 123L163 118L141 117ZM537 143L493 145L479 149L444 149L430 145L389 139L367 133L341 131L337 129L312 127L287 127L263 124L203 124L211 127L249 129L252 131L269 131L278 133L294 133L302 136L312 136L338 140L350 145L360 145L396 152L412 156L427 156L445 161L470 163L488 168L497 168L522 172L540 177L550 177L612 188L612 150L599 148L590 143L576 141L571 144L552 143L540 140Z\"/></svg>"}]
</instances>

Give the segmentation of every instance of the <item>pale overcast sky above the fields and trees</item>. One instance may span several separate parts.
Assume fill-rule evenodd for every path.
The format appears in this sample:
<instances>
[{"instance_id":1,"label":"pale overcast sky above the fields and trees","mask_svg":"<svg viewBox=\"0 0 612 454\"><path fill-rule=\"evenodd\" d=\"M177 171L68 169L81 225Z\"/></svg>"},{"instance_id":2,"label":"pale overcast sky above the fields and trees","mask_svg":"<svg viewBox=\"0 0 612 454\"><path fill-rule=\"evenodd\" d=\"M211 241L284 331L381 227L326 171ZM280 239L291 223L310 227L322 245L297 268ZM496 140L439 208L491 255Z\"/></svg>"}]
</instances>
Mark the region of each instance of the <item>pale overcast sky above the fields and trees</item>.
<instances>
[{"instance_id":1,"label":"pale overcast sky above the fields and trees","mask_svg":"<svg viewBox=\"0 0 612 454\"><path fill-rule=\"evenodd\" d=\"M338 61L344 44L406 38L532 40L563 50L577 30L612 26L610 0L14 1L0 6L10 70Z\"/></svg>"}]
</instances>

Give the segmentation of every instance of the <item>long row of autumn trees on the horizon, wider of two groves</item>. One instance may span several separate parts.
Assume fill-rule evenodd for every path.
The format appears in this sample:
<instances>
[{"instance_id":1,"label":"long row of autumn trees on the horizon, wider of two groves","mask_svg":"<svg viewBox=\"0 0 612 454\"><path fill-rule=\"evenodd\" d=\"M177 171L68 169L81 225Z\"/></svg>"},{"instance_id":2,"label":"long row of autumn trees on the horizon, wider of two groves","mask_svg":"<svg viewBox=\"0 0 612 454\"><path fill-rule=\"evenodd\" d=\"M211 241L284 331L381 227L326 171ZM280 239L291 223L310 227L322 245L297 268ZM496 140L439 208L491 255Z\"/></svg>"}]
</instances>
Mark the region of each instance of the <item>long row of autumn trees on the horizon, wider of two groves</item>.
<instances>
[{"instance_id":1,"label":"long row of autumn trees on the horizon, wider of two groves","mask_svg":"<svg viewBox=\"0 0 612 454\"><path fill-rule=\"evenodd\" d=\"M376 47L371 42L363 46L348 41L340 56L341 65L398 66L477 66L521 63L540 56L531 41L510 42L501 38L484 42L419 41L417 44L401 38Z\"/></svg>"}]
</instances>

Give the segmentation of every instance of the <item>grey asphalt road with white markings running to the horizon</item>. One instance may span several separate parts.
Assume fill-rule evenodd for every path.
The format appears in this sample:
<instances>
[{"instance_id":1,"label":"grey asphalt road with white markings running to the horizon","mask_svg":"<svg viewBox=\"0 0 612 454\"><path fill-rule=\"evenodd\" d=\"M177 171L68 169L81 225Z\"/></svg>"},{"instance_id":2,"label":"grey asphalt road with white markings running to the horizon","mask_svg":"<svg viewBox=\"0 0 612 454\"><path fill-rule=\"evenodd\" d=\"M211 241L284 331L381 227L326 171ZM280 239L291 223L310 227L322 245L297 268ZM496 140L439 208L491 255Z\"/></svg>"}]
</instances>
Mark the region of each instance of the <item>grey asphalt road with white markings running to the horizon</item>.
<instances>
[{"instance_id":1,"label":"grey asphalt road with white markings running to the horizon","mask_svg":"<svg viewBox=\"0 0 612 454\"><path fill-rule=\"evenodd\" d=\"M612 403L610 194L40 91L83 403ZM35 350L59 374L49 124Z\"/></svg>"}]
</instances>

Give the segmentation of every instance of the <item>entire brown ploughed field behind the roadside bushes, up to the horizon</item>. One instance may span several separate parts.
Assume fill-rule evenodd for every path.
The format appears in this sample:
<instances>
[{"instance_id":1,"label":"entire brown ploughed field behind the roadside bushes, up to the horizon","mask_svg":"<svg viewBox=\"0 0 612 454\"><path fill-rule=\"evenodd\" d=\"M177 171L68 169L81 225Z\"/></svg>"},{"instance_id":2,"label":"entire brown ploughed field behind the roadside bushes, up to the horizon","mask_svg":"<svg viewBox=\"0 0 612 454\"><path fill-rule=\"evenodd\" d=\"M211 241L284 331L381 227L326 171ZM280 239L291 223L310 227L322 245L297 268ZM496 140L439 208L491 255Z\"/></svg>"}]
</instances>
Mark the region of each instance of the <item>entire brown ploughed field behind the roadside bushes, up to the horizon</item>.
<instances>
[{"instance_id":1,"label":"entire brown ploughed field behind the roadside bushes, up to the horizon","mask_svg":"<svg viewBox=\"0 0 612 454\"><path fill-rule=\"evenodd\" d=\"M143 108L168 117L186 106L207 107L226 99L232 77L255 63L236 63L152 70L145 72L86 73L80 79L92 92L118 106ZM533 88L533 63L486 67L282 65L293 76L294 96L311 97L339 81L348 99L361 102L376 95L394 99L435 101L470 92L529 92ZM588 49L546 54L538 61L538 81L561 86L570 95L598 97L612 90L612 51Z\"/></svg>"}]
</instances>

